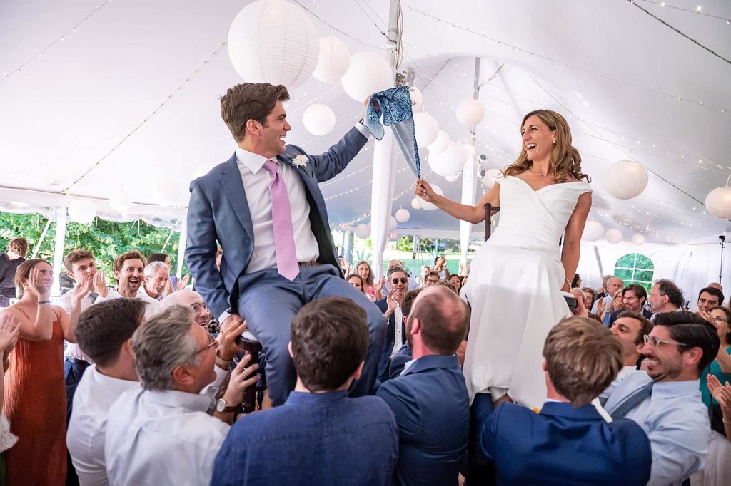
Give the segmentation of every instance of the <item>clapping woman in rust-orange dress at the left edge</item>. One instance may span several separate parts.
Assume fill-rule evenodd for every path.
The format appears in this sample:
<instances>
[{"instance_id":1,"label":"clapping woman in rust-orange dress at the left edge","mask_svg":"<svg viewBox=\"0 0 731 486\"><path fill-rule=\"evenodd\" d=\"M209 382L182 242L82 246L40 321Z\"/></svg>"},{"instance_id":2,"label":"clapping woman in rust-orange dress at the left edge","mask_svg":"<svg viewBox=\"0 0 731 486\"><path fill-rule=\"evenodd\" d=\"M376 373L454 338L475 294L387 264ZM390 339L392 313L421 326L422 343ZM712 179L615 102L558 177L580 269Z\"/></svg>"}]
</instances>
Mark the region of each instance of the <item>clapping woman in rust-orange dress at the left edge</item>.
<instances>
[{"instance_id":1,"label":"clapping woman in rust-orange dress at the left edge","mask_svg":"<svg viewBox=\"0 0 731 486\"><path fill-rule=\"evenodd\" d=\"M88 282L87 282L88 283ZM64 485L66 481L66 387L64 339L76 342L82 285L71 290L72 315L50 305L53 268L24 261L15 272L20 300L4 309L20 325L20 339L5 374L4 415L18 442L5 452L8 485Z\"/></svg>"}]
</instances>

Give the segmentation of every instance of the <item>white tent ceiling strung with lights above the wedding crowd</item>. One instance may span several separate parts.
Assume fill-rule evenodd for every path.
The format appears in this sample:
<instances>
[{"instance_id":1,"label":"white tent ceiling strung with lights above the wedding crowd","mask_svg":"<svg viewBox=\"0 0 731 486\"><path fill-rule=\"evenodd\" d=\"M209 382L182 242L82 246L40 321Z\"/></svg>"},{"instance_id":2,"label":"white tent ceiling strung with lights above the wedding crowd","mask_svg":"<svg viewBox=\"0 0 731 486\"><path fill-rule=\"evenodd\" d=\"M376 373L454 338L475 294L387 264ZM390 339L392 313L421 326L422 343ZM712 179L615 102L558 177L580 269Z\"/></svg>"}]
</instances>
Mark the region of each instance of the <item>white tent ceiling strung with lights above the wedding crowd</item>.
<instances>
[{"instance_id":1,"label":"white tent ceiling strung with lights above the wedding crowd","mask_svg":"<svg viewBox=\"0 0 731 486\"><path fill-rule=\"evenodd\" d=\"M0 2L0 201L50 206L58 204L53 193L107 199L124 189L143 204L139 214L181 215L192 175L234 150L218 99L242 81L224 42L249 3ZM385 47L388 0L295 3L311 12L320 35L338 36L351 53ZM481 58L480 82L504 64L480 90L486 116L477 153L487 155L488 167L518 154L526 112L555 109L569 120L594 181L590 219L625 239L639 231L648 242L715 242L731 225L706 215L702 203L731 173L731 2L702 1L700 12L697 2L666 3L404 0L401 69L415 69L414 84L440 128L466 139L454 108L472 96L474 58ZM291 94L288 141L311 153L326 150L360 116L360 103L339 83L311 79ZM335 111L338 128L316 137L302 114L320 100ZM322 184L333 224L352 225L370 211L373 144ZM619 201L603 185L605 171L630 155L648 168L650 182L643 195ZM428 174L427 150L422 157ZM394 211L411 210L414 177L403 160L396 163ZM461 182L426 178L459 198ZM178 209L154 206L168 188ZM412 210L399 225L401 232L425 229L457 231L458 222Z\"/></svg>"}]
</instances>

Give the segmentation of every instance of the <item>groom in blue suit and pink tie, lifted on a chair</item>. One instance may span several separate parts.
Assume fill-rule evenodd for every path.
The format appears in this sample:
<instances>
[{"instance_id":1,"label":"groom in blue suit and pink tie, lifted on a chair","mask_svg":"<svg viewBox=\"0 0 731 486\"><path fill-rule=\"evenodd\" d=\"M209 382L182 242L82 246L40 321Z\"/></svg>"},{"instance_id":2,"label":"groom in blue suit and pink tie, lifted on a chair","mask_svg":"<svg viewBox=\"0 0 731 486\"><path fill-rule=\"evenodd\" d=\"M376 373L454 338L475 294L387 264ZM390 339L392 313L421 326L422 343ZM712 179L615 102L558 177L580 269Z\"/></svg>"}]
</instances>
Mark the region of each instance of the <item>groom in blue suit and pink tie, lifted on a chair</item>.
<instances>
[{"instance_id":1,"label":"groom in blue suit and pink tie, lifted on a chair","mask_svg":"<svg viewBox=\"0 0 731 486\"><path fill-rule=\"evenodd\" d=\"M357 123L322 155L285 146L292 128L282 105L288 99L287 88L269 83L236 85L221 98L221 117L238 147L190 186L186 262L221 325L246 320L261 342L273 405L284 404L297 379L287 351L292 317L318 298L355 301L366 309L370 342L351 394L371 394L385 319L343 279L318 187L355 158L368 131ZM220 271L216 242L223 250Z\"/></svg>"}]
</instances>

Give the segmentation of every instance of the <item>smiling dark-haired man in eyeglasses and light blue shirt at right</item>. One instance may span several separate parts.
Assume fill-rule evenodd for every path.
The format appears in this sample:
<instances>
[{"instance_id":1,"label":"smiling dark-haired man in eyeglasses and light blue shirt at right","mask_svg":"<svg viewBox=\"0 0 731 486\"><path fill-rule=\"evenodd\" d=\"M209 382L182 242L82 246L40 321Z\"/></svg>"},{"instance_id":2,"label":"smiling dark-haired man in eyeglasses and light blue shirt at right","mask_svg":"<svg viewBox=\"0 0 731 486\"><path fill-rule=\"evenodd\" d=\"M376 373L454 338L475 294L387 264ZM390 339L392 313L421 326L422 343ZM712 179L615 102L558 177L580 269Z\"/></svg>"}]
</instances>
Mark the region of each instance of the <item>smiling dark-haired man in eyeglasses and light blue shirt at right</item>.
<instances>
[{"instance_id":1,"label":"smiling dark-haired man in eyeglasses and light blue shirt at right","mask_svg":"<svg viewBox=\"0 0 731 486\"><path fill-rule=\"evenodd\" d=\"M613 420L629 418L650 438L648 485L680 485L703 468L711 426L700 398L700 374L715 358L716 328L692 312L664 312L640 352L647 372L610 385L600 399Z\"/></svg>"}]
</instances>

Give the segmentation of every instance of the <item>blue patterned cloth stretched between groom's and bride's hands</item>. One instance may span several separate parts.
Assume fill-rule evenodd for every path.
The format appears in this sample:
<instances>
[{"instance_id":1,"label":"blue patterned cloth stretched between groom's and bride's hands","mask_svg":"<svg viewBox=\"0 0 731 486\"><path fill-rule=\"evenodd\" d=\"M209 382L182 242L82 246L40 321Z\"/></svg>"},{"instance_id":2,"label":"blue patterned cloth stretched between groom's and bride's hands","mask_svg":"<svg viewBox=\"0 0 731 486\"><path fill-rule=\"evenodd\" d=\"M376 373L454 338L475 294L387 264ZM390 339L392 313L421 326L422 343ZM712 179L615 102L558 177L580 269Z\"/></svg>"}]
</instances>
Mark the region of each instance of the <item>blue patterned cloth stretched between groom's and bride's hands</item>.
<instances>
[{"instance_id":1,"label":"blue patterned cloth stretched between groom's and bride's hands","mask_svg":"<svg viewBox=\"0 0 731 486\"><path fill-rule=\"evenodd\" d=\"M376 112L373 101L378 102L380 111ZM404 154L406 163L409 164L416 177L421 177L419 147L417 147L416 134L414 133L414 115L408 86L390 88L371 95L363 125L378 140L382 139L384 135L381 117L383 117L383 125L390 126L393 129L396 142L401 147L401 153Z\"/></svg>"}]
</instances>

